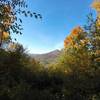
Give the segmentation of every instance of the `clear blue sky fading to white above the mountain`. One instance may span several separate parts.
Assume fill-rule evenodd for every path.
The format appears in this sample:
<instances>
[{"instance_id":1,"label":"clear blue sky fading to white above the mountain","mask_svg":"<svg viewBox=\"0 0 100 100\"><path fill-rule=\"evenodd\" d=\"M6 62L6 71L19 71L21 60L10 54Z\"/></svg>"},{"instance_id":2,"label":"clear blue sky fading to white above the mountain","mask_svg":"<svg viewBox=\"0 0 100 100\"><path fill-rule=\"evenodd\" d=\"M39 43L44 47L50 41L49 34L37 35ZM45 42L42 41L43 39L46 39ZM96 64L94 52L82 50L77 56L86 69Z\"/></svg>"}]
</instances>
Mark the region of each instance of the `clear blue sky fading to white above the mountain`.
<instances>
[{"instance_id":1,"label":"clear blue sky fading to white above the mountain","mask_svg":"<svg viewBox=\"0 0 100 100\"><path fill-rule=\"evenodd\" d=\"M72 28L86 23L93 0L27 1L29 9L40 13L43 19L22 17L23 35L16 38L30 53L46 53L63 48L63 41Z\"/></svg>"}]
</instances>

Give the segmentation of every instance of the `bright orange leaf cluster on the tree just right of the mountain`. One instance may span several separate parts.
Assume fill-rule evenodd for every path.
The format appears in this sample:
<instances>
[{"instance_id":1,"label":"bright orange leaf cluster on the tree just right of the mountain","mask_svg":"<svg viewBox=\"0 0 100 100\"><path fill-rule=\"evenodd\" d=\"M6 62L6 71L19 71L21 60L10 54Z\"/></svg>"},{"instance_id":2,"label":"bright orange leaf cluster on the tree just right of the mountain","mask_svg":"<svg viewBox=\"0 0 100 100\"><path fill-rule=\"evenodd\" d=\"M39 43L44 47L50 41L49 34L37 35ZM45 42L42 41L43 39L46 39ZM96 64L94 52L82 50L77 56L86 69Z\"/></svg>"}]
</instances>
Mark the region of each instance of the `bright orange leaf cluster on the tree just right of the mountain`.
<instances>
[{"instance_id":1,"label":"bright orange leaf cluster on the tree just right of the mountain","mask_svg":"<svg viewBox=\"0 0 100 100\"><path fill-rule=\"evenodd\" d=\"M75 27L72 31L71 34L66 37L64 40L64 47L69 47L69 46L76 46L75 45L75 38L78 38L79 34L83 32L83 29L80 26Z\"/></svg>"}]
</instances>

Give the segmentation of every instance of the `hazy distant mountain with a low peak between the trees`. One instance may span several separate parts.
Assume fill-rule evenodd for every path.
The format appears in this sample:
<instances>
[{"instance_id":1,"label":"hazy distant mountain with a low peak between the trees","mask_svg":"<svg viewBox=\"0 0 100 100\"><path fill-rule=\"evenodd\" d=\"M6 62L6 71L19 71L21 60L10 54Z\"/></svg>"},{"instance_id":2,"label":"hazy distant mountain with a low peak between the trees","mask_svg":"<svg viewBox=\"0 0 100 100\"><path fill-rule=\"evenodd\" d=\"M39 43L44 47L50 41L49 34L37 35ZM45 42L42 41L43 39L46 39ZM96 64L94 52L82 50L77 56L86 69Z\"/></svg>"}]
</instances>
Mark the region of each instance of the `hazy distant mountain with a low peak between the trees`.
<instances>
[{"instance_id":1,"label":"hazy distant mountain with a low peak between the trees","mask_svg":"<svg viewBox=\"0 0 100 100\"><path fill-rule=\"evenodd\" d=\"M60 50L54 50L49 53L45 54L31 54L31 57L35 58L36 60L40 61L42 64L49 64L56 61L56 58L60 55Z\"/></svg>"}]
</instances>

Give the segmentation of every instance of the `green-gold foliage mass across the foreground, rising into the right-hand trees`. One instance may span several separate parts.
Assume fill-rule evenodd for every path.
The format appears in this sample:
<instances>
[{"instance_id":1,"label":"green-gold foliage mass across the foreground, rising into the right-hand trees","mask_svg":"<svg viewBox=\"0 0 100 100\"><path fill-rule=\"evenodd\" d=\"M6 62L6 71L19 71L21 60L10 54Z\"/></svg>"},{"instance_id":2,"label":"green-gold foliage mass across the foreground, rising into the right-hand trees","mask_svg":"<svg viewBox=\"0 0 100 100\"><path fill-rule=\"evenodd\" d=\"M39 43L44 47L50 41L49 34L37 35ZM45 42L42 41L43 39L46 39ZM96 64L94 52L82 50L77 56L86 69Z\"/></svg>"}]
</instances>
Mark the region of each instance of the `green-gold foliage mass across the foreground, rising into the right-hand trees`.
<instances>
[{"instance_id":1,"label":"green-gold foliage mass across the foreground, rising into the right-hand trees","mask_svg":"<svg viewBox=\"0 0 100 100\"><path fill-rule=\"evenodd\" d=\"M99 100L100 29L91 21L48 67L22 45L0 49L0 100Z\"/></svg>"}]
</instances>

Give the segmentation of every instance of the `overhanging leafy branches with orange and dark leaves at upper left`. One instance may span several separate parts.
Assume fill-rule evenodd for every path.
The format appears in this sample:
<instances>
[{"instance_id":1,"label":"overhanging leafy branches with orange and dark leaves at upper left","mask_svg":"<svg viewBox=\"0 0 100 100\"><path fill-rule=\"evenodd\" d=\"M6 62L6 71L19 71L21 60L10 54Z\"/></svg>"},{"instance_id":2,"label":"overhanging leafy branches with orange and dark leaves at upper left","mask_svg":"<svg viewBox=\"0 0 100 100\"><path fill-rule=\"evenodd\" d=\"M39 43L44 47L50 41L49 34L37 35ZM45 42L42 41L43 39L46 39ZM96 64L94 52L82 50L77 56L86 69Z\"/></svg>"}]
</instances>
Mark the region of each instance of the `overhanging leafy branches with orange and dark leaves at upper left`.
<instances>
[{"instance_id":1,"label":"overhanging leafy branches with orange and dark leaves at upper left","mask_svg":"<svg viewBox=\"0 0 100 100\"><path fill-rule=\"evenodd\" d=\"M0 0L0 46L5 39L11 40L11 34L22 34L22 19L18 14L25 17L42 18L40 14L30 12L25 0Z\"/></svg>"}]
</instances>

